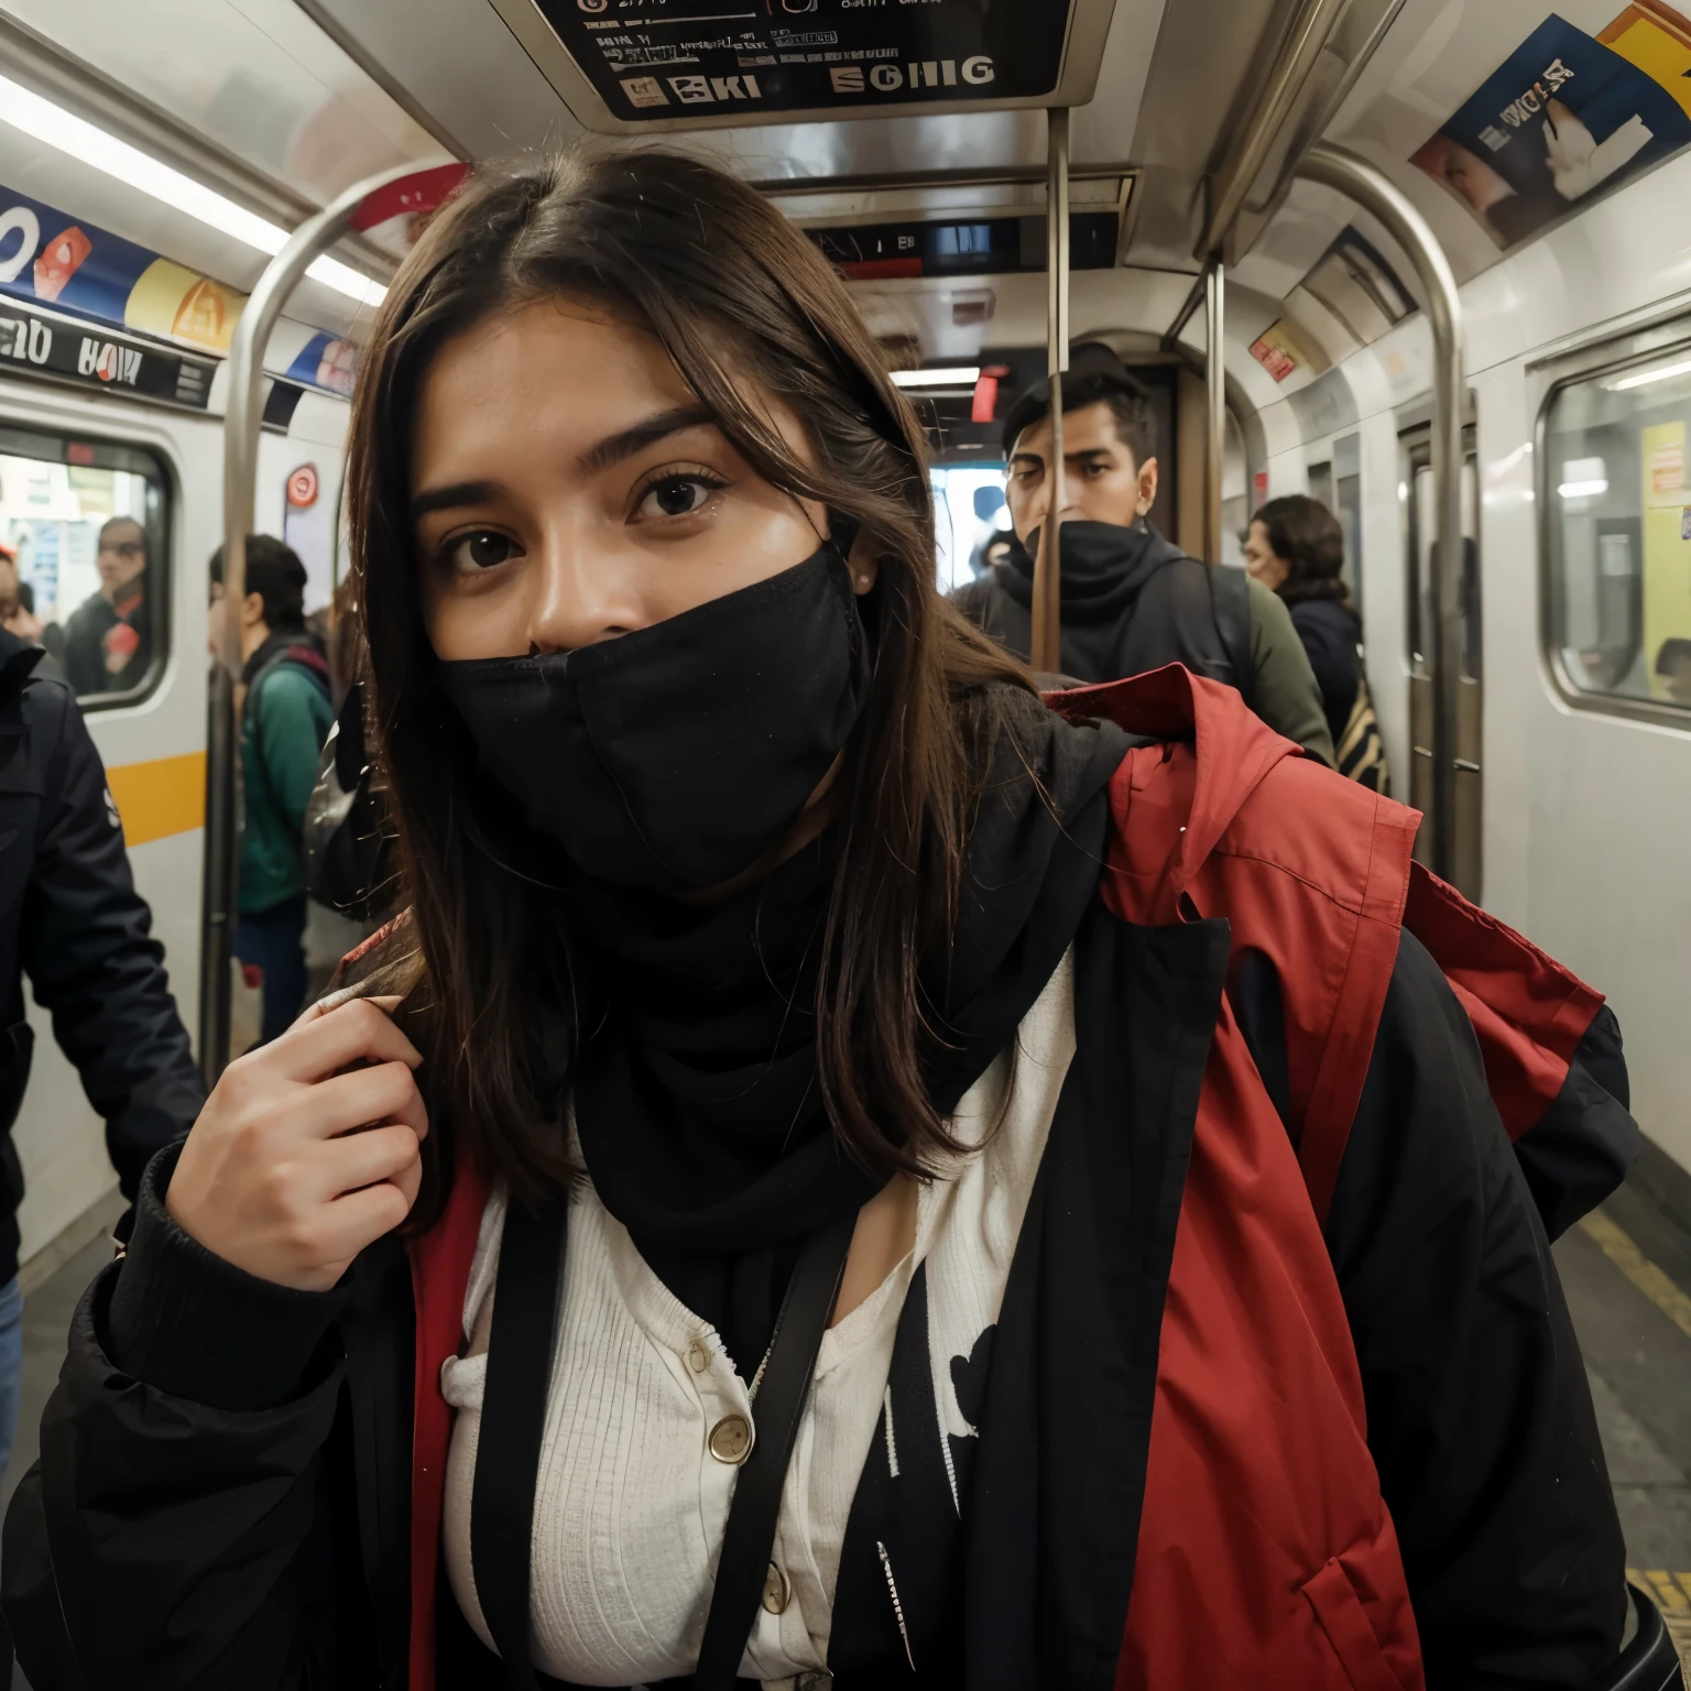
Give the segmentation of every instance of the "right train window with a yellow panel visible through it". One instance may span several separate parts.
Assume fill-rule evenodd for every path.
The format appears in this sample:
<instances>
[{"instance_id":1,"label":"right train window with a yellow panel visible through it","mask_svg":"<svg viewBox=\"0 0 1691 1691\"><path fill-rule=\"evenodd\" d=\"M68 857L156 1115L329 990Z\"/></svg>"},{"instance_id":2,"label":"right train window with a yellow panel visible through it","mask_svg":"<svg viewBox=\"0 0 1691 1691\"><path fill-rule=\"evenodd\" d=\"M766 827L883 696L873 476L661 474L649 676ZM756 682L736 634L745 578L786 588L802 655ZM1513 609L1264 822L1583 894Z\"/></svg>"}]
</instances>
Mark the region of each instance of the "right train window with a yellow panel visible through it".
<instances>
[{"instance_id":1,"label":"right train window with a yellow panel visible through it","mask_svg":"<svg viewBox=\"0 0 1691 1691\"><path fill-rule=\"evenodd\" d=\"M1556 392L1541 497L1549 639L1576 695L1691 709L1691 355Z\"/></svg>"}]
</instances>

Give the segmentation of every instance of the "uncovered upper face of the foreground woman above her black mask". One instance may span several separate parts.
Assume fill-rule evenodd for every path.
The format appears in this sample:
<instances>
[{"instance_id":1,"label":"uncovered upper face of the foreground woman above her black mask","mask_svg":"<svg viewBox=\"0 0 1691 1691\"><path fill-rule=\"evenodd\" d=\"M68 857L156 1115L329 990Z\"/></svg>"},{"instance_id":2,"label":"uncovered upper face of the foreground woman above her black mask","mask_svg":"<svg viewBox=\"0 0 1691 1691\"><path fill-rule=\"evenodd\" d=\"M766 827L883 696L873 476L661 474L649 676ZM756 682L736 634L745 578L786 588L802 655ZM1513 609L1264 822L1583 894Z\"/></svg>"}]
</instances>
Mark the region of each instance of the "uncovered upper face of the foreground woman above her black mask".
<instances>
[{"instance_id":1,"label":"uncovered upper face of the foreground woman above her black mask","mask_svg":"<svg viewBox=\"0 0 1691 1691\"><path fill-rule=\"evenodd\" d=\"M769 406L793 453L796 418ZM436 656L517 658L616 639L780 575L827 512L727 443L663 347L548 299L448 342L411 443L423 617ZM852 585L874 585L854 555Z\"/></svg>"}]
</instances>

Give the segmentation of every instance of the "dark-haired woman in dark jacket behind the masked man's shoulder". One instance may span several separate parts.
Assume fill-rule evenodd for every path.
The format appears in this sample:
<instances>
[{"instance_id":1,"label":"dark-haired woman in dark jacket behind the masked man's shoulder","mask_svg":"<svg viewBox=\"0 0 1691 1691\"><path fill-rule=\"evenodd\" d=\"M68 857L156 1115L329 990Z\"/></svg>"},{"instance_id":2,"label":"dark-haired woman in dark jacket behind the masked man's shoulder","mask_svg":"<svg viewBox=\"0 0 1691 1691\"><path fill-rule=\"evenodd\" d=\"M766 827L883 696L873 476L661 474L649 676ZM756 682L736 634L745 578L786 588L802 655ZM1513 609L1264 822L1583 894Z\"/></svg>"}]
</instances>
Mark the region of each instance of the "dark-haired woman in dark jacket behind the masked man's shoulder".
<instances>
[{"instance_id":1,"label":"dark-haired woman in dark jacket behind the masked man's shoulder","mask_svg":"<svg viewBox=\"0 0 1691 1691\"><path fill-rule=\"evenodd\" d=\"M1270 499L1251 517L1245 568L1292 612L1321 688L1339 773L1387 791L1385 747L1361 658L1363 624L1341 578L1344 529L1319 499Z\"/></svg>"}]
</instances>

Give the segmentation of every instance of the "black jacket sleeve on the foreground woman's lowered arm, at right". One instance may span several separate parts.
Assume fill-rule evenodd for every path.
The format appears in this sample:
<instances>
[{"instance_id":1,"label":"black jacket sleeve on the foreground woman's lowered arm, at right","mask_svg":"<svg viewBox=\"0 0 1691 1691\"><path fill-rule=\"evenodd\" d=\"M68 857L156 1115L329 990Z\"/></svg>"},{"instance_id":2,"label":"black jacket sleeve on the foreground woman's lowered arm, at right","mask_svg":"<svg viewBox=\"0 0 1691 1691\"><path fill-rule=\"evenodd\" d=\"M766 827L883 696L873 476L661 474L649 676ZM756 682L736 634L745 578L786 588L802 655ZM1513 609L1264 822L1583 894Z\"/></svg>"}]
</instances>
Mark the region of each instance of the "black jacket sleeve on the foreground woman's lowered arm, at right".
<instances>
[{"instance_id":1,"label":"black jacket sleeve on the foreground woman's lowered arm, at right","mask_svg":"<svg viewBox=\"0 0 1691 1691\"><path fill-rule=\"evenodd\" d=\"M1584 1365L1473 1028L1407 932L1327 1245L1429 1691L1590 1686L1627 1596Z\"/></svg>"}]
</instances>

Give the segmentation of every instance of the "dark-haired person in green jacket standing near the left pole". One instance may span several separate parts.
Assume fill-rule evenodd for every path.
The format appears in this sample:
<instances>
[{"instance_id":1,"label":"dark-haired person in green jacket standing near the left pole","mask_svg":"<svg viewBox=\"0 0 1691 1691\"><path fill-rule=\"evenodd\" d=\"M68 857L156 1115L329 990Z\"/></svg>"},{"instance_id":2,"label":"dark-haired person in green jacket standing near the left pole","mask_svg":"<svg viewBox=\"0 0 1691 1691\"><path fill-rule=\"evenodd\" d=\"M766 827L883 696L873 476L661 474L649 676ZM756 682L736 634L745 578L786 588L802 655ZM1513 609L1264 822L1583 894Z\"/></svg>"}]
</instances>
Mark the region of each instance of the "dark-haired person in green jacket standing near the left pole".
<instances>
[{"instance_id":1,"label":"dark-haired person in green jacket standing near the left pole","mask_svg":"<svg viewBox=\"0 0 1691 1691\"><path fill-rule=\"evenodd\" d=\"M235 955L260 977L260 1043L299 1015L306 996L306 881L301 829L318 756L335 720L328 658L304 626L306 566L269 534L247 536L240 605L240 764L244 820ZM211 641L228 616L223 550L211 558Z\"/></svg>"}]
</instances>

